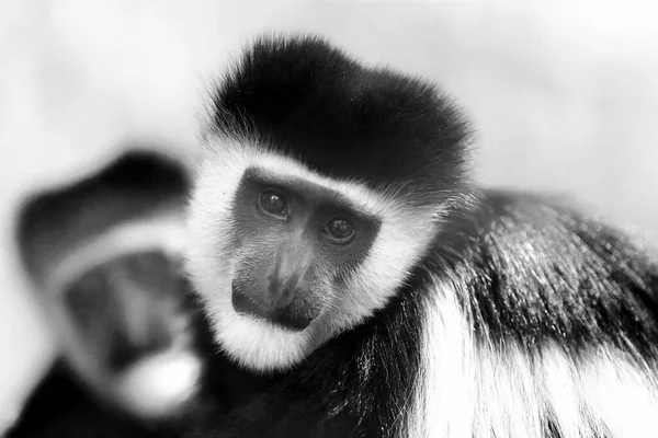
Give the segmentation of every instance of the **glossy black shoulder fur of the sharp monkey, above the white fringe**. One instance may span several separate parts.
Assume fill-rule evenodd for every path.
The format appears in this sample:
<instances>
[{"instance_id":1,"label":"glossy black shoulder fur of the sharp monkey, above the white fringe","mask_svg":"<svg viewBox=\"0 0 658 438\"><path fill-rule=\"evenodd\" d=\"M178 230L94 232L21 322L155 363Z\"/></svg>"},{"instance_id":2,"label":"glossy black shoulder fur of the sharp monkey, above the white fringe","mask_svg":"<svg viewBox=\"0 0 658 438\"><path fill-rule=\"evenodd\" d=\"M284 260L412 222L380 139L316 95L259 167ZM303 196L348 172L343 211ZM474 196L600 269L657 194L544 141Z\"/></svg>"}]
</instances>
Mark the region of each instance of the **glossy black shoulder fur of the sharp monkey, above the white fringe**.
<instances>
[{"instance_id":1,"label":"glossy black shoulder fur of the sharp monkey, above the white fringe","mask_svg":"<svg viewBox=\"0 0 658 438\"><path fill-rule=\"evenodd\" d=\"M478 333L656 356L658 265L621 230L568 203L502 191L484 191L452 222L429 269L455 285Z\"/></svg>"}]
</instances>

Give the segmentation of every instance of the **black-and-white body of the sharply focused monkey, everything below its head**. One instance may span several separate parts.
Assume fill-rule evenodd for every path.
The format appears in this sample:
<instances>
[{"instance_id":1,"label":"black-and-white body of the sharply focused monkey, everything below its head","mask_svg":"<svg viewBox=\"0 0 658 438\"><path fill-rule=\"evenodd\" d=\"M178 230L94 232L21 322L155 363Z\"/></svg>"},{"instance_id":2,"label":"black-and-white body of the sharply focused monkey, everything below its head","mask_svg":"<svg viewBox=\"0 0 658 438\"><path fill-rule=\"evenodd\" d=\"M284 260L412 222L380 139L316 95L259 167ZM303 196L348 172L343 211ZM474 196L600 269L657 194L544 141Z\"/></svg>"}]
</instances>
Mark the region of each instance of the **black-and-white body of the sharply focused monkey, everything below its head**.
<instances>
[{"instance_id":1,"label":"black-and-white body of the sharply focused monkey, everything below its head","mask_svg":"<svg viewBox=\"0 0 658 438\"><path fill-rule=\"evenodd\" d=\"M261 381L264 389L232 411L230 422L214 425L213 433L263 437L653 436L657 431L653 418L658 412L653 345L658 339L655 289L648 285L655 285L655 265L617 234L602 233L599 223L582 218L577 223L599 230L595 239L572 239L575 246L565 249L568 253L547 253L556 247L554 228L564 227L560 233L572 237L576 230L568 227L575 218L560 210L546 216L548 207L541 204L544 207L538 209L525 205L537 199L524 199L486 193L480 207L460 219L458 233L446 230L446 234L438 234L407 286L398 289L383 310L330 339L292 371ZM500 204L507 205L509 217L496 211ZM520 221L518 215L535 208L542 219L534 227L529 227L529 218ZM527 240L531 232L534 235ZM635 260L632 270L616 258L594 254L599 246ZM491 255L500 249L509 254L507 258ZM492 273L509 272L506 263L514 260L511 254L522 251L542 255L551 269L536 260L525 261L506 281L491 283ZM470 258L474 255L478 261ZM461 266L447 267L446 263ZM593 269L599 264L613 272L588 277L597 273ZM586 342L572 313L560 313L557 306L537 307L527 299L543 293L525 285L537 281L553 286L545 290L545 299L567 308L580 301L586 290L552 278L560 269L577 269L580 278L597 281L605 292L599 297L605 310L589 303L583 310L599 321L589 326ZM623 273L615 274L615 269ZM614 283L605 284L609 279ZM611 293L621 287L624 293ZM515 298L515 293L521 296ZM533 339L530 333L514 336L511 328L501 331L502 323L521 325L483 311L499 302L503 304L496 310L513 311L512 318L534 314L537 337ZM626 313L634 316L628 319L623 315ZM555 336L557 332L552 333L551 327L566 320L574 320L572 328Z\"/></svg>"}]
</instances>

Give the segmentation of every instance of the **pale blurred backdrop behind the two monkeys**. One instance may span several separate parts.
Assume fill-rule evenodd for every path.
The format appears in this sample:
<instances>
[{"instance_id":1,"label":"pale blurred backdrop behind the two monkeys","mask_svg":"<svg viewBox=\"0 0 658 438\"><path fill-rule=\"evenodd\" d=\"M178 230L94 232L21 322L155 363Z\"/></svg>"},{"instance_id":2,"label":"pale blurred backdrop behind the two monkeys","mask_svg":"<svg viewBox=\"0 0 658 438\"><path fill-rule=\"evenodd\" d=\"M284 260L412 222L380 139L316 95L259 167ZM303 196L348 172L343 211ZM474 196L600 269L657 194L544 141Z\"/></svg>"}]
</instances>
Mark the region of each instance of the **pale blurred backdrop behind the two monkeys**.
<instances>
[{"instance_id":1,"label":"pale blurred backdrop behind the two monkeys","mask_svg":"<svg viewBox=\"0 0 658 438\"><path fill-rule=\"evenodd\" d=\"M0 430L53 358L19 268L19 203L147 145L189 162L204 90L259 33L324 33L435 80L477 128L475 176L658 240L658 3L0 2Z\"/></svg>"}]
</instances>

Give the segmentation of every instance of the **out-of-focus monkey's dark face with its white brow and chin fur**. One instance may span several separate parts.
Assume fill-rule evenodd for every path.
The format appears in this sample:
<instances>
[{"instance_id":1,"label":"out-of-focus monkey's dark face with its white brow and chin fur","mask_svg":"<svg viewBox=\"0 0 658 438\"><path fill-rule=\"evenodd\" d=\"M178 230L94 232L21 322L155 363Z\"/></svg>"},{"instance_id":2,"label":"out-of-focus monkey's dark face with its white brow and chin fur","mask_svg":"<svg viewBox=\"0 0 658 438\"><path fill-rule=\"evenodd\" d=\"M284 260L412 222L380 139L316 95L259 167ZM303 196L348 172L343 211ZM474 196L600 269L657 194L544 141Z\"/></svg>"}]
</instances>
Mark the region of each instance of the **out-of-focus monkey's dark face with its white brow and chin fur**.
<instances>
[{"instance_id":1,"label":"out-of-focus monkey's dark face with its white brow and chin fur","mask_svg":"<svg viewBox=\"0 0 658 438\"><path fill-rule=\"evenodd\" d=\"M194 307L167 239L177 228L164 218L116 227L64 257L47 281L67 365L101 400L146 419L182 413L202 373Z\"/></svg>"}]
</instances>

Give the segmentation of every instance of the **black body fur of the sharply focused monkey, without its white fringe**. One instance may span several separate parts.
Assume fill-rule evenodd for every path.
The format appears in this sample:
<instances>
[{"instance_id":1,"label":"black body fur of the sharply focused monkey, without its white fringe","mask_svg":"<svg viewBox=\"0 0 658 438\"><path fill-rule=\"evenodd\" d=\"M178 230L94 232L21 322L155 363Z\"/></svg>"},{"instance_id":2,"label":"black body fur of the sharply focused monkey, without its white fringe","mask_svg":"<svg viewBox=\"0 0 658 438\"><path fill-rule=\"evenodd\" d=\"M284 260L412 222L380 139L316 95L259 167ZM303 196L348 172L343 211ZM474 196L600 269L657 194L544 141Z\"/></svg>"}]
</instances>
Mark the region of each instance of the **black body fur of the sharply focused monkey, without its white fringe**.
<instances>
[{"instance_id":1,"label":"black body fur of the sharply focused monkey, without its white fringe","mask_svg":"<svg viewBox=\"0 0 658 438\"><path fill-rule=\"evenodd\" d=\"M222 384L209 384L232 407L213 415L198 436L396 436L418 378L429 273L463 292L480 342L513 341L532 353L554 341L577 357L602 345L631 358L658 357L658 268L646 254L551 201L486 192L436 237L408 285L367 323L284 376L266 380L237 371L237 379L227 379L239 388L251 381L250 397L242 392L238 401ZM215 368L214 378L225 381L225 369ZM558 425L545 420L547 436L559 437Z\"/></svg>"}]
</instances>

